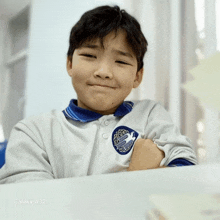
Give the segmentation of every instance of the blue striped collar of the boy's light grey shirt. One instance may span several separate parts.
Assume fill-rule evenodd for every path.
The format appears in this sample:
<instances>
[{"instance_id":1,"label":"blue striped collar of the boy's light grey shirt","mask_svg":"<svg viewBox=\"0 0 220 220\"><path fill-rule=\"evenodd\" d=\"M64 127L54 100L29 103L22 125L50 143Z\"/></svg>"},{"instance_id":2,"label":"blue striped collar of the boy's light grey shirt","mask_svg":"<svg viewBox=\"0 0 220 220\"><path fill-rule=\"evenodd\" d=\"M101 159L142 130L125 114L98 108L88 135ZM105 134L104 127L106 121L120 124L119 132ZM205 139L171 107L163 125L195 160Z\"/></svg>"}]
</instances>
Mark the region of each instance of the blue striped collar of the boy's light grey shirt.
<instances>
[{"instance_id":1,"label":"blue striped collar of the boy's light grey shirt","mask_svg":"<svg viewBox=\"0 0 220 220\"><path fill-rule=\"evenodd\" d=\"M114 116L122 117L128 114L131 112L133 105L133 102L123 102L115 111ZM66 118L80 122L94 121L103 116L99 113L78 107L76 99L70 100L70 104L65 110L63 110L63 114L66 116Z\"/></svg>"}]
</instances>

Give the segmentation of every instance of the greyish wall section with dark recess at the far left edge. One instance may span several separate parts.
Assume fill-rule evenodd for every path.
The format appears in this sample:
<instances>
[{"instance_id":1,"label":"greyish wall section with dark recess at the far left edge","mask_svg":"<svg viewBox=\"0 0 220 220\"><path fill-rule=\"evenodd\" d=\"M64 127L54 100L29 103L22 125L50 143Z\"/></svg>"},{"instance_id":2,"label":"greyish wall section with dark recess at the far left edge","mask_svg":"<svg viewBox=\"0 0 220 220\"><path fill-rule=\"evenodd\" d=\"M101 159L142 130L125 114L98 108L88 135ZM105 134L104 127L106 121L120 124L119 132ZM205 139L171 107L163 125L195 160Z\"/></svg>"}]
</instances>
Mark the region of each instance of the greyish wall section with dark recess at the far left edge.
<instances>
[{"instance_id":1,"label":"greyish wall section with dark recess at the far left edge","mask_svg":"<svg viewBox=\"0 0 220 220\"><path fill-rule=\"evenodd\" d=\"M23 118L27 42L23 12L30 1L0 0L0 127L6 139L12 127Z\"/></svg>"}]
</instances>

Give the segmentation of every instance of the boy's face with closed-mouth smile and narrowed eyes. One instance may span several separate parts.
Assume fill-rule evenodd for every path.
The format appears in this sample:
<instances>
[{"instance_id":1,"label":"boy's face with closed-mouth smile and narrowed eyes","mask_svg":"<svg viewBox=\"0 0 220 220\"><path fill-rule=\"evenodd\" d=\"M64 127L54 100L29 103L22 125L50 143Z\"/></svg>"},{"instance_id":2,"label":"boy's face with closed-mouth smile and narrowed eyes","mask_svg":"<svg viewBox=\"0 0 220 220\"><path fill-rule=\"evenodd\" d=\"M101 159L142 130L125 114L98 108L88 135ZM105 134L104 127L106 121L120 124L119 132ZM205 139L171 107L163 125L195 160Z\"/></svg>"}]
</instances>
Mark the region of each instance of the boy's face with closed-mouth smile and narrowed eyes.
<instances>
[{"instance_id":1,"label":"boy's face with closed-mouth smile and narrowed eyes","mask_svg":"<svg viewBox=\"0 0 220 220\"><path fill-rule=\"evenodd\" d=\"M67 59L67 71L77 93L78 106L103 115L113 114L132 88L139 86L143 69L124 31L111 32L103 39L85 42Z\"/></svg>"}]
</instances>

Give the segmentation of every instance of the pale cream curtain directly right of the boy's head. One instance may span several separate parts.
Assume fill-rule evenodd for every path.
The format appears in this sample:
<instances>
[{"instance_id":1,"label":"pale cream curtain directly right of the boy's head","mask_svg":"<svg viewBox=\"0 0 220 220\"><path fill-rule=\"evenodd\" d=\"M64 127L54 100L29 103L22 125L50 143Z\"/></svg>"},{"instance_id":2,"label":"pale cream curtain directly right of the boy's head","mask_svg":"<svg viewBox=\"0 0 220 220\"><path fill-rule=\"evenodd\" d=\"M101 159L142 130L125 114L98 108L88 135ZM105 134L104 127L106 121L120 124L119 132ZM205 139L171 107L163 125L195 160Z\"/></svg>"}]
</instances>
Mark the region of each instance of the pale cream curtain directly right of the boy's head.
<instances>
[{"instance_id":1,"label":"pale cream curtain directly right of the boy's head","mask_svg":"<svg viewBox=\"0 0 220 220\"><path fill-rule=\"evenodd\" d=\"M170 4L169 1L133 1L133 15L140 22L148 41L144 58L142 84L129 96L130 99L153 99L169 106L169 52Z\"/></svg>"}]
</instances>

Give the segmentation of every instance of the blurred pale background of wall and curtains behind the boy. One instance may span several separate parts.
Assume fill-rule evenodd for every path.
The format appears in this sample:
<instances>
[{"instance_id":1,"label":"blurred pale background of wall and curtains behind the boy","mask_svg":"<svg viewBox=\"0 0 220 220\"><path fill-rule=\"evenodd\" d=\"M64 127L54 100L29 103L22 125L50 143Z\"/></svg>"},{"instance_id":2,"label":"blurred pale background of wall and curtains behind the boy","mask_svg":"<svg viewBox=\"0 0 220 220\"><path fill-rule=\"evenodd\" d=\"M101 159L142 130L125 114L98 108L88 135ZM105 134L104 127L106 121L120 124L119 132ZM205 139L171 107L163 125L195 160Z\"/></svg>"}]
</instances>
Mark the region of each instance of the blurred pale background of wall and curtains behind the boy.
<instances>
[{"instance_id":1,"label":"blurred pale background of wall and curtains behind the boy","mask_svg":"<svg viewBox=\"0 0 220 220\"><path fill-rule=\"evenodd\" d=\"M220 0L0 0L0 142L19 120L76 98L66 72L70 29L104 4L136 17L149 43L144 80L128 99L160 102L199 163L220 162L219 111L183 88L190 70L220 51Z\"/></svg>"}]
</instances>

